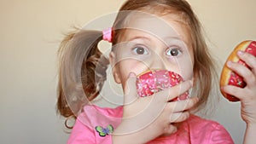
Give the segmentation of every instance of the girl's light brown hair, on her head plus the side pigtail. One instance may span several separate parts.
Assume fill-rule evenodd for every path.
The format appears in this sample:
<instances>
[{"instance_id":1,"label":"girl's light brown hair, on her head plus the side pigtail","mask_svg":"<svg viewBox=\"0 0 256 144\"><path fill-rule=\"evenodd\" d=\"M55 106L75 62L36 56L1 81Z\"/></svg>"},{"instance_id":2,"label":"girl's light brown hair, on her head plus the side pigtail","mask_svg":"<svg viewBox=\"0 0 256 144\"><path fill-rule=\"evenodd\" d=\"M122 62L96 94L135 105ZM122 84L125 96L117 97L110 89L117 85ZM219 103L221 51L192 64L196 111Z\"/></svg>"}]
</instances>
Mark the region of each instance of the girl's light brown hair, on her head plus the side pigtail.
<instances>
[{"instance_id":1,"label":"girl's light brown hair, on her head plus the side pigtail","mask_svg":"<svg viewBox=\"0 0 256 144\"><path fill-rule=\"evenodd\" d=\"M157 10L156 10L157 9ZM113 23L113 45L119 43L120 37L123 37L124 32L119 27L125 25L127 15L121 14L123 11L143 11L157 14L178 14L189 28L190 38L194 51L194 75L195 86L193 89L194 95L198 96L198 102L195 110L204 107L208 101L208 95L211 94L213 80L216 78L215 67L212 62L211 55L209 55L207 44L202 34L201 23L197 19L189 3L185 0L128 0L119 9L119 14ZM74 116L73 110L67 104L67 96L79 95L79 93L72 93L74 95L65 95L63 84L72 83L78 88L83 87L84 93L89 101L96 98L102 89L102 84L106 80L106 69L108 67L108 60L103 58L102 53L97 48L97 43L102 40L102 32L78 30L72 32L64 38L59 49L60 67L59 67L59 85L58 85L58 111L64 117ZM79 64L79 60L83 59ZM102 69L96 71L96 65L100 65ZM79 70L78 70L79 68ZM81 78L73 78L79 75ZM64 73L64 74L63 74ZM77 84L77 81L81 84ZM97 80L96 79L100 79ZM68 84L69 86L71 84ZM74 88L77 89L77 88ZM75 101L80 104L81 108L84 103Z\"/></svg>"}]
</instances>

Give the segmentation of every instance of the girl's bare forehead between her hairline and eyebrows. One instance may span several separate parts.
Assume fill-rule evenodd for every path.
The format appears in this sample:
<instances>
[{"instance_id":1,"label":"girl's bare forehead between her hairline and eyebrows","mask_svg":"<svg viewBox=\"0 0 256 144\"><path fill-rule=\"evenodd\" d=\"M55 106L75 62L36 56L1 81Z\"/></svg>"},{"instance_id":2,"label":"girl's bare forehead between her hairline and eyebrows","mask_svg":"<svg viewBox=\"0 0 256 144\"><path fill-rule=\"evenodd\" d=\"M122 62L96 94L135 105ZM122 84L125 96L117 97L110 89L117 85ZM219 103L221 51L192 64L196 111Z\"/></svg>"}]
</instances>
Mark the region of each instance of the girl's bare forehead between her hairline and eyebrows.
<instances>
[{"instance_id":1,"label":"girl's bare forehead between her hairline and eyebrows","mask_svg":"<svg viewBox=\"0 0 256 144\"><path fill-rule=\"evenodd\" d=\"M143 32L146 32L163 41L174 37L181 39L184 43L189 43L188 27L182 20L178 20L177 14L166 14L162 16L153 14L133 14L129 16L126 21L125 32L127 32L126 34L129 33L130 36L132 33L143 34Z\"/></svg>"}]
</instances>

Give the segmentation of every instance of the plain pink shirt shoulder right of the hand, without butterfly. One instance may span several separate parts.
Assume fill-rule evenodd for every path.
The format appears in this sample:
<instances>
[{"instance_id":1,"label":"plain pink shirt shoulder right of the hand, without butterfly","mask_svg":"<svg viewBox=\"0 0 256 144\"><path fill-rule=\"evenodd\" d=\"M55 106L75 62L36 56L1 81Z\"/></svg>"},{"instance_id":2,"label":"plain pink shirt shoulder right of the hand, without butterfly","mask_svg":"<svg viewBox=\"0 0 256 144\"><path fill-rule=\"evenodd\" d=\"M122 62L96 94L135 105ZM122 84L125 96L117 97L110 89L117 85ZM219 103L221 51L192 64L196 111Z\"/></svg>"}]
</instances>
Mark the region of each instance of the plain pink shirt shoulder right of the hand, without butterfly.
<instances>
[{"instance_id":1,"label":"plain pink shirt shoulder right of the hand, without butterfly","mask_svg":"<svg viewBox=\"0 0 256 144\"><path fill-rule=\"evenodd\" d=\"M177 132L172 135L160 136L147 144L234 144L230 134L218 122L190 115L189 119L177 124Z\"/></svg>"}]
</instances>

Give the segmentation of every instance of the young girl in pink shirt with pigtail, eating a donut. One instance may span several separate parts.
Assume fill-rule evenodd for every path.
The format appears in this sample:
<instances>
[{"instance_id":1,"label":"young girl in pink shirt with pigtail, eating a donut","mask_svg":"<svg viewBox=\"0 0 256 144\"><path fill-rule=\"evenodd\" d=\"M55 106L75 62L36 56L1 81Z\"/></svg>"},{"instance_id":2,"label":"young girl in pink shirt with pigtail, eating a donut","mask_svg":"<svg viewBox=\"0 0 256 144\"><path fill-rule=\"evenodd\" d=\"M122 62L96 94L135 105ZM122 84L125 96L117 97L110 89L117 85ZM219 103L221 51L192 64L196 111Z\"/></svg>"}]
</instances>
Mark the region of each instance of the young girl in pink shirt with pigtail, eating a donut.
<instances>
[{"instance_id":1,"label":"young girl in pink shirt with pigtail, eating a donut","mask_svg":"<svg viewBox=\"0 0 256 144\"><path fill-rule=\"evenodd\" d=\"M108 59L97 48L102 39L113 45L109 62L124 90L121 107L90 104L106 80ZM232 62L228 66L247 87L222 89L241 100L244 143L249 144L256 134L256 59L238 55L251 70ZM103 34L69 34L61 43L60 59L58 110L76 118L67 143L234 143L223 126L192 114L206 106L215 71L200 22L184 0L129 0ZM180 76L182 83L139 96L137 78L162 70ZM191 96L180 99L188 91Z\"/></svg>"}]
</instances>

